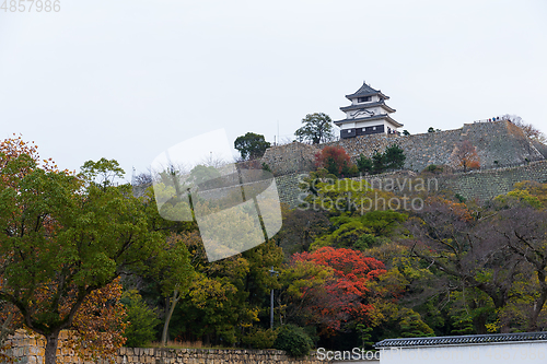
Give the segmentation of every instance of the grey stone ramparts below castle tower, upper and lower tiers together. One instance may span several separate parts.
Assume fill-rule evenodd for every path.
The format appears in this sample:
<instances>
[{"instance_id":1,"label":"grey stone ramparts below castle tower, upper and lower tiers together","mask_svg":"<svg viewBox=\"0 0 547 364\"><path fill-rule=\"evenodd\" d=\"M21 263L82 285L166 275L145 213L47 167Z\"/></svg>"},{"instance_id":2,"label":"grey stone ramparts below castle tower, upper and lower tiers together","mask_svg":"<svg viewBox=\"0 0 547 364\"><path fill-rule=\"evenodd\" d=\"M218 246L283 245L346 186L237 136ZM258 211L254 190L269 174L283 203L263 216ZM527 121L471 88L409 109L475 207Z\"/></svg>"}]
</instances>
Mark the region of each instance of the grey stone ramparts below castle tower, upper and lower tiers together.
<instances>
[{"instance_id":1,"label":"grey stone ramparts below castle tower, upper and lower tiers together","mask_svg":"<svg viewBox=\"0 0 547 364\"><path fill-rule=\"evenodd\" d=\"M455 153L464 140L476 146L481 171L440 175L435 178L441 189L484 201L509 192L517 181L547 181L547 145L531 141L521 128L507 120L466 124L461 129L408 137L361 136L319 145L293 142L268 149L261 162L277 176L280 200L295 208L302 199L298 188L302 174L314 171L314 156L326 145L342 146L354 162L360 154L370 157L397 144L406 155L404 168L419 173L432 164L457 169Z\"/></svg>"}]
</instances>

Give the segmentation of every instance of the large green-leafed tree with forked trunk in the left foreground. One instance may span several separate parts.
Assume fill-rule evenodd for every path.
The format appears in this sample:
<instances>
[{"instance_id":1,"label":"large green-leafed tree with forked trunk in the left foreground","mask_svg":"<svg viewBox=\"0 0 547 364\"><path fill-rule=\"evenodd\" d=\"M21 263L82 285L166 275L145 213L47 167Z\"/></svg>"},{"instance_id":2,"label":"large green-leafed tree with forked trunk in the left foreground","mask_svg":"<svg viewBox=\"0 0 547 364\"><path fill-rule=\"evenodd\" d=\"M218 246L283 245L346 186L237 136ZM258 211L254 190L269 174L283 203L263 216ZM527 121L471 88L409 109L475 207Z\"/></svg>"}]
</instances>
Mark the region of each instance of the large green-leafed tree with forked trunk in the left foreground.
<instances>
[{"instance_id":1,"label":"large green-leafed tree with forked trunk in the left foreground","mask_svg":"<svg viewBox=\"0 0 547 364\"><path fill-rule=\"evenodd\" d=\"M138 269L165 239L150 231L130 186L86 185L47 163L40 166L33 150L21 140L14 143L8 146L14 153L0 154L0 301L16 307L24 326L45 337L45 363L53 364L60 330L77 325L88 303L92 315L101 313L109 298L95 296L98 290ZM85 180L104 172L98 167L88 164ZM115 302L114 295L108 305Z\"/></svg>"}]
</instances>

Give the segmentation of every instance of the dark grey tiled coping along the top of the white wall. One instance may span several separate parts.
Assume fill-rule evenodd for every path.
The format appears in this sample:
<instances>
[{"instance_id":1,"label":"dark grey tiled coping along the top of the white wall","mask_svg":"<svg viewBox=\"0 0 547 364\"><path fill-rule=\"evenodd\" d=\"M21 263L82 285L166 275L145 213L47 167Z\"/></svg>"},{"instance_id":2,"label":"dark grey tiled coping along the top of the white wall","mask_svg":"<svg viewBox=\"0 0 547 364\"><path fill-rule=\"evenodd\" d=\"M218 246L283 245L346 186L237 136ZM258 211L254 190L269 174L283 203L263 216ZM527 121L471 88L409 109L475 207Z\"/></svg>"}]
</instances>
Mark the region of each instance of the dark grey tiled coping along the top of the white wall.
<instances>
[{"instance_id":1,"label":"dark grey tiled coping along the top of the white wall","mask_svg":"<svg viewBox=\"0 0 547 364\"><path fill-rule=\"evenodd\" d=\"M547 332L519 332L519 333L490 333L470 334L461 337L385 339L375 344L376 348L403 347L433 347L433 345L462 345L492 342L537 341L546 340Z\"/></svg>"}]
</instances>

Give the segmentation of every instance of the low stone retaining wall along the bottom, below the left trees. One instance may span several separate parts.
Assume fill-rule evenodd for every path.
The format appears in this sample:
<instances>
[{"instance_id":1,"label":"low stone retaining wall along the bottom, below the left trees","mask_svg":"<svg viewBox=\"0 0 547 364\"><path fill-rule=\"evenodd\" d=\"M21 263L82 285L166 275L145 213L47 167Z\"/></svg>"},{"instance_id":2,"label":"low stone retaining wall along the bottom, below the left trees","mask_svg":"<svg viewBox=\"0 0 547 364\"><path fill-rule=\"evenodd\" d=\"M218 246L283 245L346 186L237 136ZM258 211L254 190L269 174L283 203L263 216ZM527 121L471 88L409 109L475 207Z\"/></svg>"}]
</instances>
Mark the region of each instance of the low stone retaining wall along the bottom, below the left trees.
<instances>
[{"instance_id":1,"label":"low stone retaining wall along the bottom, below the left trees","mask_svg":"<svg viewBox=\"0 0 547 364\"><path fill-rule=\"evenodd\" d=\"M84 362L77 353L67 349L69 331L59 334L57 363L66 364L106 364L106 361ZM15 363L43 364L45 340L43 337L18 330L10 338L12 349L8 352ZM236 350L236 349L167 349L167 348L121 348L115 359L116 364L325 364L315 353L295 360L279 350Z\"/></svg>"}]
</instances>

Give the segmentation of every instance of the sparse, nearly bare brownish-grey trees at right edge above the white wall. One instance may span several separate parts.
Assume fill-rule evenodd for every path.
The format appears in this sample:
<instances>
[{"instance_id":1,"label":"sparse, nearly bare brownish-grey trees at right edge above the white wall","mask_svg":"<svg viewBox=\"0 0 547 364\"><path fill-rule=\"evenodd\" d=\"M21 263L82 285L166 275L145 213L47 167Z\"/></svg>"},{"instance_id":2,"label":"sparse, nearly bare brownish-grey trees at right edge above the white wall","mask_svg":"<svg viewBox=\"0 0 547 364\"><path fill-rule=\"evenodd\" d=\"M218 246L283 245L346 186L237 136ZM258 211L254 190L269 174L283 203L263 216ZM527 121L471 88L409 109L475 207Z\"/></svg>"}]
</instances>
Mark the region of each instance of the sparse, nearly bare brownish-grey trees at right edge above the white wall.
<instances>
[{"instance_id":1,"label":"sparse, nearly bare brownish-grey trees at right edge above the white wall","mask_svg":"<svg viewBox=\"0 0 547 364\"><path fill-rule=\"evenodd\" d=\"M544 188L516 189L476 212L430 198L409 220L406 244L444 285L464 325L456 332L547 328L547 212L533 195Z\"/></svg>"}]
</instances>

